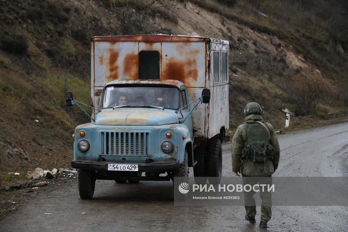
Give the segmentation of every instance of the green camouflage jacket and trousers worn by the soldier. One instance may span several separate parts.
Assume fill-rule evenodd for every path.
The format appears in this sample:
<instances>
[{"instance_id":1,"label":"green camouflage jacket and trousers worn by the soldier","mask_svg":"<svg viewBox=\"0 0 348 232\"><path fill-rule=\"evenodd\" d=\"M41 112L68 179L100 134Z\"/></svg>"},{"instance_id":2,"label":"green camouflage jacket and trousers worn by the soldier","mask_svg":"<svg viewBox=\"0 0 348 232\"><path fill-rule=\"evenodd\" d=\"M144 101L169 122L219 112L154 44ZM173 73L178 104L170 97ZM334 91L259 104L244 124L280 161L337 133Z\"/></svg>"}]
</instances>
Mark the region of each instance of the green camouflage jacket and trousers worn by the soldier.
<instances>
[{"instance_id":1,"label":"green camouflage jacket and trousers worn by the soldier","mask_svg":"<svg viewBox=\"0 0 348 232\"><path fill-rule=\"evenodd\" d=\"M256 103L257 104L257 103ZM262 111L263 112L263 111ZM262 114L262 112L260 114ZM244 111L245 113L245 111ZM269 129L270 133L264 129L265 134L267 134L268 141L271 146L275 149L275 157L271 159L267 159L266 163L263 162L253 162L250 158L242 159L243 149L246 149L247 145L247 126L246 122L244 124L238 126L237 131L232 139L232 171L233 172L241 172L243 176L243 183L250 184L253 186L257 182L259 184L272 184L271 175L278 167L279 163L279 144L276 133L271 124L266 123L262 120L261 115L259 114L251 114L245 117L245 121L250 120L258 120L263 122ZM259 123L253 123L253 126L261 126ZM258 127L258 128L261 128ZM254 127L255 128L255 127ZM252 132L252 131L251 131ZM249 131L249 133L251 133ZM259 177L259 178L248 178L248 177ZM260 178L260 177L268 177L268 178ZM256 206L253 195L254 191L244 192L244 203L245 203L245 211L248 217L255 218L256 215ZM268 222L271 219L272 211L271 211L271 193L270 192L262 192L260 191L260 197L262 199L261 205L261 222Z\"/></svg>"}]
</instances>

